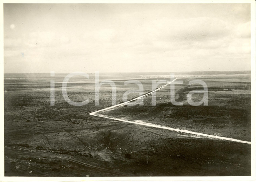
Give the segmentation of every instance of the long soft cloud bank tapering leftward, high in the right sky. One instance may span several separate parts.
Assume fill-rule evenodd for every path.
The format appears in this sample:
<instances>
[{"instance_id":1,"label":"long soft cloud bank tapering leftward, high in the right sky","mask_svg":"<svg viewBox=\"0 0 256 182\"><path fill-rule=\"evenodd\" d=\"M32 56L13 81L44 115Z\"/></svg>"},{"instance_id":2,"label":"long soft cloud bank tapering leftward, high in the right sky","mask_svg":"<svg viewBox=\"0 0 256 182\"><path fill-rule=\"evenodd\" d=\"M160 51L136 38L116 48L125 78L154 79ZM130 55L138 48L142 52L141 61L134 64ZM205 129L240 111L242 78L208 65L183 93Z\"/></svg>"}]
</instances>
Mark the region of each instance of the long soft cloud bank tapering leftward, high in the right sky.
<instances>
[{"instance_id":1,"label":"long soft cloud bank tapering leftward, high in the right sky","mask_svg":"<svg viewBox=\"0 0 256 182\"><path fill-rule=\"evenodd\" d=\"M230 35L233 25L219 18L169 18L161 17L142 21L128 27L115 29L98 29L86 32L85 41L90 42L177 42L205 41ZM164 46L164 45L163 45Z\"/></svg>"}]
</instances>

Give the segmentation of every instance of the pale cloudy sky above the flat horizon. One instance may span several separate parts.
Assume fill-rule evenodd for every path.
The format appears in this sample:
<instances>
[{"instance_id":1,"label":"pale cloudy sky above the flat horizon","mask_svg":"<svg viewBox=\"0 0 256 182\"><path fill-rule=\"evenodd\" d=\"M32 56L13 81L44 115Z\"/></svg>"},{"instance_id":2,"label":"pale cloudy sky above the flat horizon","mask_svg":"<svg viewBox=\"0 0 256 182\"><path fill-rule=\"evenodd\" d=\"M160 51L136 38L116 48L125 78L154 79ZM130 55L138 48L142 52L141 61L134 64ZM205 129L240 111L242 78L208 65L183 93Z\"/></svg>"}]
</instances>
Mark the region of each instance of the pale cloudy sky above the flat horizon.
<instances>
[{"instance_id":1,"label":"pale cloudy sky above the flat horizon","mask_svg":"<svg viewBox=\"0 0 256 182\"><path fill-rule=\"evenodd\" d=\"M250 4L4 4L4 73L251 70Z\"/></svg>"}]
</instances>

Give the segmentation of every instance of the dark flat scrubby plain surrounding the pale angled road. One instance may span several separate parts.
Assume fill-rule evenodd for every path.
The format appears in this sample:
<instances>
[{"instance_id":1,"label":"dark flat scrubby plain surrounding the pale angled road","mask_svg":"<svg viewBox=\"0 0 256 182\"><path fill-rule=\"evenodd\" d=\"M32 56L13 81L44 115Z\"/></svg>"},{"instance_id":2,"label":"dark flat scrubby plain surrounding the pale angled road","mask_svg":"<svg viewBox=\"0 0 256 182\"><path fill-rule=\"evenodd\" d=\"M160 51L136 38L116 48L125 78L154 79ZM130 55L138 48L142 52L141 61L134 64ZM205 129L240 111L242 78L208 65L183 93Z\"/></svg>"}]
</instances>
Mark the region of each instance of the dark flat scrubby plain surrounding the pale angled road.
<instances>
[{"instance_id":1,"label":"dark flat scrubby plain surrounding the pale angled road","mask_svg":"<svg viewBox=\"0 0 256 182\"><path fill-rule=\"evenodd\" d=\"M181 73L180 73L181 74ZM198 74L198 73L196 73ZM118 122L88 115L110 106L111 87L100 90L95 106L94 75L90 79L70 79L67 93L84 106L72 106L62 96L66 75L8 75L4 79L5 176L250 176L251 145L209 139L184 133ZM181 74L184 84L175 86L175 98L183 106L170 103L170 87L151 96L144 105L118 107L104 115L129 121L147 122L216 136L251 141L251 80L248 73ZM168 74L103 74L117 86L117 103L125 91L152 90L152 80L170 80ZM208 106L191 106L186 94L200 85L208 86ZM55 80L55 105L50 105L50 80ZM161 85L159 85L161 86ZM139 96L128 95L128 99ZM199 101L202 94L193 94Z\"/></svg>"}]
</instances>

